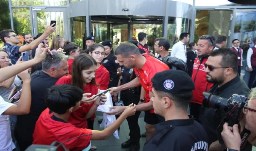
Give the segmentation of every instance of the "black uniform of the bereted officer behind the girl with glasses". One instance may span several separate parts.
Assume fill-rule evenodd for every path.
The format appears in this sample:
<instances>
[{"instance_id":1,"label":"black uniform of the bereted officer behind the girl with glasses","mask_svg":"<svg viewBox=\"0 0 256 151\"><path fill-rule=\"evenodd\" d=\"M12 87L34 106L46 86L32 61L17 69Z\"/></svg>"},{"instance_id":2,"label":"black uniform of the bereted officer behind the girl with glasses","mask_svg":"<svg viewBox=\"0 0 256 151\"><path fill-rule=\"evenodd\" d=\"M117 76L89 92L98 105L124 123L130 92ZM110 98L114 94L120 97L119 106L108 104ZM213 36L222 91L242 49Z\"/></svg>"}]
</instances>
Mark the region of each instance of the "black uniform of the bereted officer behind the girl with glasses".
<instances>
[{"instance_id":1,"label":"black uniform of the bereted officer behind the girl with glasses","mask_svg":"<svg viewBox=\"0 0 256 151\"><path fill-rule=\"evenodd\" d=\"M113 51L113 50L112 50ZM117 76L117 69L120 68L117 57L110 53L106 58L101 61L101 64L108 70L109 72L109 85L108 88L117 87L119 78Z\"/></svg>"}]
</instances>

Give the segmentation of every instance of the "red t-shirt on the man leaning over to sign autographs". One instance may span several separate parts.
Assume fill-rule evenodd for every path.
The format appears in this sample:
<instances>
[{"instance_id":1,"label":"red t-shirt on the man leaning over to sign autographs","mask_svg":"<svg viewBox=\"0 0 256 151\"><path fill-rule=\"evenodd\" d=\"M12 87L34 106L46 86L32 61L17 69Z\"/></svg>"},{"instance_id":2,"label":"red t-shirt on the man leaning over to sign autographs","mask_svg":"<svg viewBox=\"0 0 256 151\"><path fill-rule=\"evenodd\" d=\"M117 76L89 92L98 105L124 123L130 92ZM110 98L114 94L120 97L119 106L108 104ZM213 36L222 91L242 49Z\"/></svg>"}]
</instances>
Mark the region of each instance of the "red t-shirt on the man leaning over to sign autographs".
<instances>
[{"instance_id":1,"label":"red t-shirt on the man leaning over to sign autographs","mask_svg":"<svg viewBox=\"0 0 256 151\"><path fill-rule=\"evenodd\" d=\"M136 76L138 77L141 86L146 91L145 102L150 101L149 92L152 92L152 82L151 79L157 72L168 70L169 67L164 62L158 60L157 58L151 55L143 55L147 60L141 69L133 68ZM150 110L151 113L154 113L154 110Z\"/></svg>"}]
</instances>

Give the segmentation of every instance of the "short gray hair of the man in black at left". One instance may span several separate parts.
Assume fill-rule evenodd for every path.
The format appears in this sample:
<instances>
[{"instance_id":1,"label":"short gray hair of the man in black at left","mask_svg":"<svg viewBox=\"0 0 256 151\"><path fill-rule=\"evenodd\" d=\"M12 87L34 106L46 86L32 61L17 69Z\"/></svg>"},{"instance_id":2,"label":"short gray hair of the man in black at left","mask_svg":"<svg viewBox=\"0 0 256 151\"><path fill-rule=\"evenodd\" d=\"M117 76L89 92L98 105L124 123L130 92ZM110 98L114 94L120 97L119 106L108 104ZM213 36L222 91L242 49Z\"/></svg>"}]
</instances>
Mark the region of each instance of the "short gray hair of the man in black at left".
<instances>
[{"instance_id":1,"label":"short gray hair of the man in black at left","mask_svg":"<svg viewBox=\"0 0 256 151\"><path fill-rule=\"evenodd\" d=\"M42 62L43 71L49 71L52 67L59 69L62 66L62 61L68 59L67 55L59 52L53 52L52 56L53 58L50 55L46 55Z\"/></svg>"}]
</instances>

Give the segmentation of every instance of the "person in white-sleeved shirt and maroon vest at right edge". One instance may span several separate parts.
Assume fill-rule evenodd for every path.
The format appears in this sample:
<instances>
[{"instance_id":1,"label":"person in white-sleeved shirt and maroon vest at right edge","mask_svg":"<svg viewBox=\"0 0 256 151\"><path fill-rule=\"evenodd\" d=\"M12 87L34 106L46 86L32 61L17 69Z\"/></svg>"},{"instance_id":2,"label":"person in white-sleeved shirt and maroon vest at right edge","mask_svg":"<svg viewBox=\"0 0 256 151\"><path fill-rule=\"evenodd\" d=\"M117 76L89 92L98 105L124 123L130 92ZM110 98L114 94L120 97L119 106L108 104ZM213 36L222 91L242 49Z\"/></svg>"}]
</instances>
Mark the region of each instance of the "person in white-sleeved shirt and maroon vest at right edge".
<instances>
[{"instance_id":1,"label":"person in white-sleeved shirt and maroon vest at right edge","mask_svg":"<svg viewBox=\"0 0 256 151\"><path fill-rule=\"evenodd\" d=\"M249 72L251 72L249 83L248 83L249 89L254 88L256 86L253 83L256 76L256 37L253 39L253 43L255 46L248 49L247 57L246 57L247 65L249 67Z\"/></svg>"}]
</instances>

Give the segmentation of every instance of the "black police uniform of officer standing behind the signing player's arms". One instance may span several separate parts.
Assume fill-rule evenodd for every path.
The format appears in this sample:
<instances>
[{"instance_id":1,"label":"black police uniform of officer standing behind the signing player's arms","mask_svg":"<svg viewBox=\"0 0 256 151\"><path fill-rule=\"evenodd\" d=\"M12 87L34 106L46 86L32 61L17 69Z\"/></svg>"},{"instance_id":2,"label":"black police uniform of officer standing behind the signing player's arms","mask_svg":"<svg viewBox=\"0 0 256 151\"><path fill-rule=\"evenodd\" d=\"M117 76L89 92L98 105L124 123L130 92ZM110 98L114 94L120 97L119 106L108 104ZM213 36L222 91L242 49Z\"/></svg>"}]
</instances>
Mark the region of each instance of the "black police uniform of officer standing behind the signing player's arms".
<instances>
[{"instance_id":1,"label":"black police uniform of officer standing behind the signing player's arms","mask_svg":"<svg viewBox=\"0 0 256 151\"><path fill-rule=\"evenodd\" d=\"M121 70L122 70L121 85L124 85L136 78L133 68L128 69L122 66ZM140 90L141 90L140 86L123 90L121 91L121 94L120 94L120 100L124 102L125 106L128 106L131 103L138 104L140 99ZM130 129L130 139L132 144L134 145L139 145L139 139L140 139L140 129L138 124L139 115L140 115L140 112L135 112L133 116L129 116L126 118L128 121L129 129Z\"/></svg>"}]
</instances>

